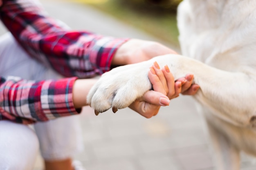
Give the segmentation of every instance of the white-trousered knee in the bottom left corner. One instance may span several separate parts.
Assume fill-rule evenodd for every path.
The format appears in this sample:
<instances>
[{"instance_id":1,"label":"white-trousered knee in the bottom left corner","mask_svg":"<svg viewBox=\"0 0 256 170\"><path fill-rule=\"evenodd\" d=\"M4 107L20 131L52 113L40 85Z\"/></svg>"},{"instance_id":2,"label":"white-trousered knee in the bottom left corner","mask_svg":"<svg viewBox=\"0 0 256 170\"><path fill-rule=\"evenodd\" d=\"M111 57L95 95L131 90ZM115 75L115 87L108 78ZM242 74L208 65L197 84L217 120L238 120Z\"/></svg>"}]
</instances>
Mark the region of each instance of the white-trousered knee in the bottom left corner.
<instances>
[{"instance_id":1,"label":"white-trousered knee in the bottom left corner","mask_svg":"<svg viewBox=\"0 0 256 170\"><path fill-rule=\"evenodd\" d=\"M38 152L38 138L32 129L0 121L0 170L32 170Z\"/></svg>"}]
</instances>

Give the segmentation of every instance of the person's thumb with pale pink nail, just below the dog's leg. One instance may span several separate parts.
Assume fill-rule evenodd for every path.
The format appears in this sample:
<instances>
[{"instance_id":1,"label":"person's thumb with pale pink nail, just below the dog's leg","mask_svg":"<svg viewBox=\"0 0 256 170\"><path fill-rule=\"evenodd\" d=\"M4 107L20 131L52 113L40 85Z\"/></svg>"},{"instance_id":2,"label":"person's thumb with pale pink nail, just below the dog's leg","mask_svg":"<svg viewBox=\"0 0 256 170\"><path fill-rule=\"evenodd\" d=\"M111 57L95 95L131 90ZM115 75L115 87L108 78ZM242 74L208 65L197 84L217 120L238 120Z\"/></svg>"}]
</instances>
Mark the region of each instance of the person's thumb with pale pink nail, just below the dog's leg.
<instances>
[{"instance_id":1,"label":"person's thumb with pale pink nail, just below the dog's leg","mask_svg":"<svg viewBox=\"0 0 256 170\"><path fill-rule=\"evenodd\" d=\"M170 103L170 99L167 96L154 90L146 92L143 95L142 100L150 104L159 106L168 106Z\"/></svg>"}]
</instances>

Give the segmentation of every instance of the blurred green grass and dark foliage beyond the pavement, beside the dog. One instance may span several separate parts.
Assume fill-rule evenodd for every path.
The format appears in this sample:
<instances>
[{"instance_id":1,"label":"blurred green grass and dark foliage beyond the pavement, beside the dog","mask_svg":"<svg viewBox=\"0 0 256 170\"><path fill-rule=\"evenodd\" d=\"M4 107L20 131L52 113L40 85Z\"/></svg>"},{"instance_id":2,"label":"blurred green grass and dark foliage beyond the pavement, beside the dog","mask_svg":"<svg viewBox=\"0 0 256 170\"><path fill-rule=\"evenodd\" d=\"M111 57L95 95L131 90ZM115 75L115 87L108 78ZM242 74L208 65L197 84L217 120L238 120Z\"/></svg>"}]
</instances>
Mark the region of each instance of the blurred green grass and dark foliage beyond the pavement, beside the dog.
<instances>
[{"instance_id":1,"label":"blurred green grass and dark foliage beyond the pavement, beside the dog","mask_svg":"<svg viewBox=\"0 0 256 170\"><path fill-rule=\"evenodd\" d=\"M178 47L176 9L181 0L108 0L91 4L173 46Z\"/></svg>"}]
</instances>

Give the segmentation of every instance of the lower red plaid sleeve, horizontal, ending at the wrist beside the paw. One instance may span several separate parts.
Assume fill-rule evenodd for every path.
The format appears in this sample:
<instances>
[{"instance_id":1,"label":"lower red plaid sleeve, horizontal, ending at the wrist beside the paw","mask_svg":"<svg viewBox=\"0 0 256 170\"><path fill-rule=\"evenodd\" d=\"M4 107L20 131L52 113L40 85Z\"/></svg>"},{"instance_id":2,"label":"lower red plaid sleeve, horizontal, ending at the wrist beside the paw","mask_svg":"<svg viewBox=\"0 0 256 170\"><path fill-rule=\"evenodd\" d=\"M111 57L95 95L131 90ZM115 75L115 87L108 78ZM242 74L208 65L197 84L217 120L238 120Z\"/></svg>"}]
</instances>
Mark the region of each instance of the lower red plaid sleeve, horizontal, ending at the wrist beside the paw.
<instances>
[{"instance_id":1,"label":"lower red plaid sleeve, horizontal, ending at the wrist beside the paw","mask_svg":"<svg viewBox=\"0 0 256 170\"><path fill-rule=\"evenodd\" d=\"M0 78L0 120L23 124L78 114L72 101L76 77L57 81Z\"/></svg>"}]
</instances>

